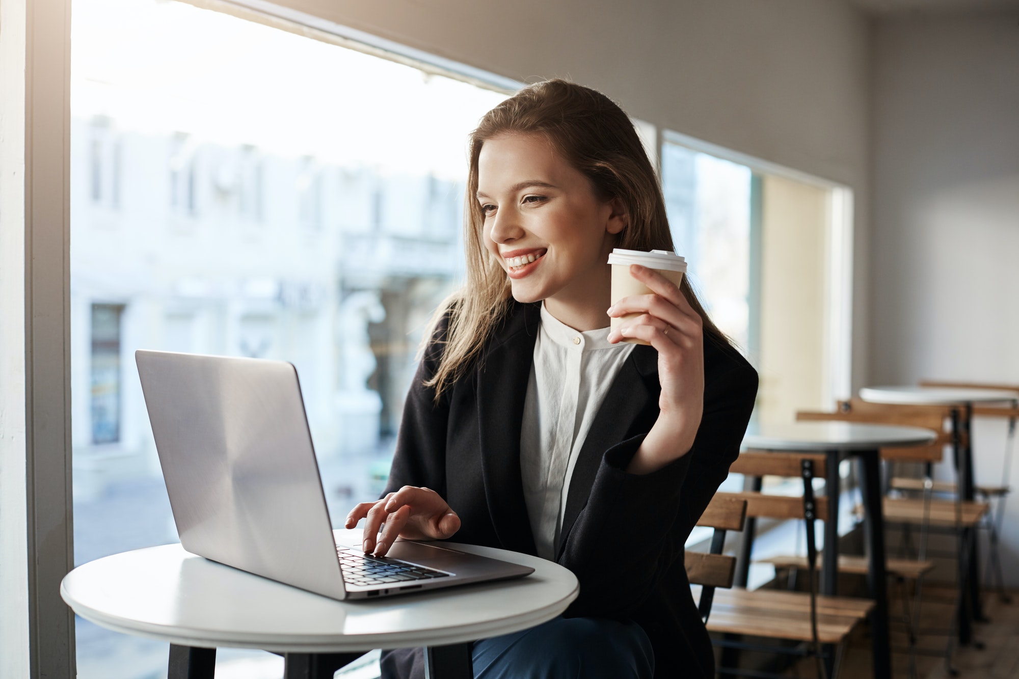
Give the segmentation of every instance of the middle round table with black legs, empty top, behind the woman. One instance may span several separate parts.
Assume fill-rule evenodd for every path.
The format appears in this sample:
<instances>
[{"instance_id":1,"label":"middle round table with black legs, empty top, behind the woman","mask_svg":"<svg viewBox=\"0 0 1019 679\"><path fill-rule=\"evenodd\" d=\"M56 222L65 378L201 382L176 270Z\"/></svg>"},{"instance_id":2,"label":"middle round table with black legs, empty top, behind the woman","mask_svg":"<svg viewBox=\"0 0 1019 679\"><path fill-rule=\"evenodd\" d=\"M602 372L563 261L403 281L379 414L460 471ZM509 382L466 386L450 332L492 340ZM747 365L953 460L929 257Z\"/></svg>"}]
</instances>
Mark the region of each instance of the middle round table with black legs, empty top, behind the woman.
<instances>
[{"instance_id":1,"label":"middle round table with black legs, empty top, behind the woman","mask_svg":"<svg viewBox=\"0 0 1019 679\"><path fill-rule=\"evenodd\" d=\"M862 491L864 508L864 544L868 559L867 586L874 599L871 614L871 644L874 677L892 676L892 647L889 632L889 602L884 549L884 519L881 510L880 449L923 446L937 434L930 429L855 422L797 422L795 424L761 424L743 437L743 446L761 451L796 451L823 453L826 456L825 493L828 516L824 521L824 551L821 555L821 586L823 593L837 594L839 568L839 462L843 456L860 458L863 467ZM760 489L760 479L756 489ZM744 549L740 556L742 582L750 564L750 542L754 527L748 519L744 528Z\"/></svg>"}]
</instances>

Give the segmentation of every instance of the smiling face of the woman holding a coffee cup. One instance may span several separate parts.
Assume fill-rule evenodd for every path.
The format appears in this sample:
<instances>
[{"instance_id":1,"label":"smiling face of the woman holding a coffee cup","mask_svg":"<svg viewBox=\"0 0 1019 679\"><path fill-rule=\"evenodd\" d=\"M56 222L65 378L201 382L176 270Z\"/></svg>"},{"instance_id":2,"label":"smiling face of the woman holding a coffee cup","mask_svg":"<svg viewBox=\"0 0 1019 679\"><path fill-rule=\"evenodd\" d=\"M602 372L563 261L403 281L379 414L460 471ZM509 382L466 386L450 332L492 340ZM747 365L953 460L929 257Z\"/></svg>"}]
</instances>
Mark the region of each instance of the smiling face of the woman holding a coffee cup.
<instances>
[{"instance_id":1,"label":"smiling face of the woman holding a coffee cup","mask_svg":"<svg viewBox=\"0 0 1019 679\"><path fill-rule=\"evenodd\" d=\"M545 300L549 312L568 324L564 315L587 308L604 316L606 262L626 225L619 201L599 200L590 180L540 135L485 141L477 199L485 247L509 275L518 302Z\"/></svg>"}]
</instances>

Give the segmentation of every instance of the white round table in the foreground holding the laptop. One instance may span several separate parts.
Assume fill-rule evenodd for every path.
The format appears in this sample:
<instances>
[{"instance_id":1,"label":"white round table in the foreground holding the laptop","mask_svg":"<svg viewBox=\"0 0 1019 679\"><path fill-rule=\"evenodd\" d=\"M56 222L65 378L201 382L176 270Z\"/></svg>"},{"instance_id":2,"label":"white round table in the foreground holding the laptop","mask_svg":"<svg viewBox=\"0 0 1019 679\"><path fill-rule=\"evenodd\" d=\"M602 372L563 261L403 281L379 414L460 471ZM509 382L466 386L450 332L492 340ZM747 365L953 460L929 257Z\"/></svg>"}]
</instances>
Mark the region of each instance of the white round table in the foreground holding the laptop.
<instances>
[{"instance_id":1,"label":"white round table in the foreground holding the laptop","mask_svg":"<svg viewBox=\"0 0 1019 679\"><path fill-rule=\"evenodd\" d=\"M334 532L339 541L360 542L361 530ZM535 572L516 580L338 602L166 544L83 564L64 577L60 595L83 618L125 634L189 648L230 646L288 655L466 644L547 622L577 597L576 576L553 562L450 545ZM441 667L436 674L460 676L443 673Z\"/></svg>"}]
</instances>

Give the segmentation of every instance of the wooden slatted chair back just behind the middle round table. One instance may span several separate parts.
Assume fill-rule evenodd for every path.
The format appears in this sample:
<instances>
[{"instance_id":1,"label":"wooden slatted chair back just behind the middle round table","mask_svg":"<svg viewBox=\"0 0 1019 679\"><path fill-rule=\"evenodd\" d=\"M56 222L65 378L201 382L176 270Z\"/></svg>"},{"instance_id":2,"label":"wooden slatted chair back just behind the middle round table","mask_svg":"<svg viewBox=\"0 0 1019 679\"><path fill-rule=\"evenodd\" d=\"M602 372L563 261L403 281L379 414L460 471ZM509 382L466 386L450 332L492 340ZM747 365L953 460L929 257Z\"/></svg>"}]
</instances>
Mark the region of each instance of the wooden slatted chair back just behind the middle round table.
<instances>
[{"instance_id":1,"label":"wooden slatted chair back just behind the middle round table","mask_svg":"<svg viewBox=\"0 0 1019 679\"><path fill-rule=\"evenodd\" d=\"M951 406L899 406L867 403L855 398L838 402L834 413L801 410L796 414L798 422L861 422L931 429L937 432L937 438L927 446L881 449L882 460L930 463L941 462L946 443L952 442L952 433L945 431L945 420L951 417Z\"/></svg>"}]
</instances>

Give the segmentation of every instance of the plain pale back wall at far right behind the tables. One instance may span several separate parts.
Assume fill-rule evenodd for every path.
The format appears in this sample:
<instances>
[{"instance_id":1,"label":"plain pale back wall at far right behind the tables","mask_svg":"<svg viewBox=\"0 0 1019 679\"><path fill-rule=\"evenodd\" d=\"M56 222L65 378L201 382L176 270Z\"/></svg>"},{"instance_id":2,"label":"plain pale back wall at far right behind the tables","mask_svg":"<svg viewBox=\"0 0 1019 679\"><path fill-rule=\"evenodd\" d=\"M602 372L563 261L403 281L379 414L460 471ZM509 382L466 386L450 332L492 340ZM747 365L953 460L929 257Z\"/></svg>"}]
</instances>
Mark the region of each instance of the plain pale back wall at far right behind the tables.
<instances>
[{"instance_id":1,"label":"plain pale back wall at far right behind the tables","mask_svg":"<svg viewBox=\"0 0 1019 679\"><path fill-rule=\"evenodd\" d=\"M1019 382L1019 11L882 19L873 58L870 381ZM1004 430L977 422L977 482L1001 479Z\"/></svg>"}]
</instances>

